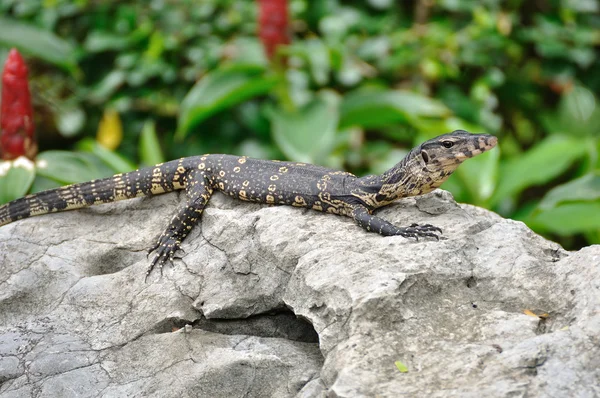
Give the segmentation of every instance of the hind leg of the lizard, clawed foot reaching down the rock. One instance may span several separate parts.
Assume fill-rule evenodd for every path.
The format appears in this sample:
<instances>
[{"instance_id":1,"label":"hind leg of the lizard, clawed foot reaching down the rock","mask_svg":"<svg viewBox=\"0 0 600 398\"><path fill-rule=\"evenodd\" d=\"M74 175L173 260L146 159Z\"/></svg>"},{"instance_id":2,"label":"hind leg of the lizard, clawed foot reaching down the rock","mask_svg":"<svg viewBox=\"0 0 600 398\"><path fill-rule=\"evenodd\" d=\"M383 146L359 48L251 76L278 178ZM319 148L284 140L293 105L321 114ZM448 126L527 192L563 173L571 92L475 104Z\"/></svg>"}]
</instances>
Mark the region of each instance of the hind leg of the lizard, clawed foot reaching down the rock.
<instances>
[{"instance_id":1,"label":"hind leg of the lizard, clawed foot reaching down the rock","mask_svg":"<svg viewBox=\"0 0 600 398\"><path fill-rule=\"evenodd\" d=\"M158 266L162 273L162 268L167 261L173 261L175 253L181 249L181 242L200 220L213 189L205 176L196 172L185 178L185 191L187 200L183 207L177 211L167 229L148 250L148 253L155 252L155 254L146 271L146 280L154 267Z\"/></svg>"}]
</instances>

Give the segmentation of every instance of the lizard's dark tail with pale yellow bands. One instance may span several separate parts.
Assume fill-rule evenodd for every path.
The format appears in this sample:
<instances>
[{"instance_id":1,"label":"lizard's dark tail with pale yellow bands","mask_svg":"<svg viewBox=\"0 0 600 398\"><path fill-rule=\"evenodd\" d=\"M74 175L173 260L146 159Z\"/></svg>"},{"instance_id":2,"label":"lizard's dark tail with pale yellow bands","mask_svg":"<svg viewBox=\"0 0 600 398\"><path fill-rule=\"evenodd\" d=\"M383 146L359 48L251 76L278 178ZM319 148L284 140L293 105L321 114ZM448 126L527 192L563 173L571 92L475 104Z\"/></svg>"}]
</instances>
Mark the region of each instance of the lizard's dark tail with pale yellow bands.
<instances>
[{"instance_id":1,"label":"lizard's dark tail with pale yellow bands","mask_svg":"<svg viewBox=\"0 0 600 398\"><path fill-rule=\"evenodd\" d=\"M172 168L169 167L171 166L169 163L165 163L166 167L162 168L149 167L81 184L49 189L13 200L0 206L0 226L22 218L156 195L183 188L183 184L174 181L172 175L165 175L164 170Z\"/></svg>"}]
</instances>

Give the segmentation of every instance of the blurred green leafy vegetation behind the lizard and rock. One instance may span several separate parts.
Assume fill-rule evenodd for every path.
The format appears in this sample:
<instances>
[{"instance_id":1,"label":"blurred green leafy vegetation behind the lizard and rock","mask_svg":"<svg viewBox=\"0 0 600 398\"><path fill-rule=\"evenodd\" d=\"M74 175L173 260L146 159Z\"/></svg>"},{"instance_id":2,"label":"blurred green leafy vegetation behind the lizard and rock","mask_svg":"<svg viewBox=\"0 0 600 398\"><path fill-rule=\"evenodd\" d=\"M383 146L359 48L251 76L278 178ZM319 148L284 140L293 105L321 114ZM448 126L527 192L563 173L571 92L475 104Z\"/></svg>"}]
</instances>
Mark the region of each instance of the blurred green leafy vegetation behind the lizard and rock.
<instances>
[{"instance_id":1,"label":"blurred green leafy vegetation behind the lizard and rock","mask_svg":"<svg viewBox=\"0 0 600 398\"><path fill-rule=\"evenodd\" d=\"M0 201L203 153L381 173L465 129L499 148L443 186L458 201L568 249L600 243L596 0L288 9L270 62L256 1L0 0L0 63L26 58L41 151Z\"/></svg>"}]
</instances>

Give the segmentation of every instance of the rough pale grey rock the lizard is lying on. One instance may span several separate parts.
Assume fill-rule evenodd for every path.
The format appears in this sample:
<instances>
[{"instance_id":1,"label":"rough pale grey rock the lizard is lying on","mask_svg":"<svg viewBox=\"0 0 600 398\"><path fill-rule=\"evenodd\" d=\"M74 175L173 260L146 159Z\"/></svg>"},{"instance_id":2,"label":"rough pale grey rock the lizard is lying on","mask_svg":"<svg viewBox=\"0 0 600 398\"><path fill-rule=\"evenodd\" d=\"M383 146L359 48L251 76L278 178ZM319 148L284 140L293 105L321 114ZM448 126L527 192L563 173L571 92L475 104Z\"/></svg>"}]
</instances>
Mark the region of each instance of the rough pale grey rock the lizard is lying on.
<instances>
[{"instance_id":1,"label":"rough pale grey rock the lizard is lying on","mask_svg":"<svg viewBox=\"0 0 600 398\"><path fill-rule=\"evenodd\" d=\"M600 246L441 190L379 212L439 242L215 195L144 283L178 204L0 228L0 397L600 396Z\"/></svg>"}]
</instances>

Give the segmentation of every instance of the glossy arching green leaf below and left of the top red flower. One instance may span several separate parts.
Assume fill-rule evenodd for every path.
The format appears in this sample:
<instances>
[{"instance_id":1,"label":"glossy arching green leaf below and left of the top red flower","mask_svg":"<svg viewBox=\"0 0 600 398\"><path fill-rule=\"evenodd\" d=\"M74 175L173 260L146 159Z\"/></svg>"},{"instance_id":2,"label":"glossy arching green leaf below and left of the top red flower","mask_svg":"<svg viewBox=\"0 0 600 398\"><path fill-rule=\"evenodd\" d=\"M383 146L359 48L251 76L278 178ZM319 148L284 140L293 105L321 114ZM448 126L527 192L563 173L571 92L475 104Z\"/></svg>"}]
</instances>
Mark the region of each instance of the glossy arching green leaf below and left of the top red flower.
<instances>
[{"instance_id":1,"label":"glossy arching green leaf below and left of the top red flower","mask_svg":"<svg viewBox=\"0 0 600 398\"><path fill-rule=\"evenodd\" d=\"M245 100L269 92L277 83L260 66L238 65L205 75L181 103L177 139L213 114Z\"/></svg>"}]
</instances>

